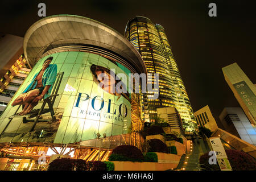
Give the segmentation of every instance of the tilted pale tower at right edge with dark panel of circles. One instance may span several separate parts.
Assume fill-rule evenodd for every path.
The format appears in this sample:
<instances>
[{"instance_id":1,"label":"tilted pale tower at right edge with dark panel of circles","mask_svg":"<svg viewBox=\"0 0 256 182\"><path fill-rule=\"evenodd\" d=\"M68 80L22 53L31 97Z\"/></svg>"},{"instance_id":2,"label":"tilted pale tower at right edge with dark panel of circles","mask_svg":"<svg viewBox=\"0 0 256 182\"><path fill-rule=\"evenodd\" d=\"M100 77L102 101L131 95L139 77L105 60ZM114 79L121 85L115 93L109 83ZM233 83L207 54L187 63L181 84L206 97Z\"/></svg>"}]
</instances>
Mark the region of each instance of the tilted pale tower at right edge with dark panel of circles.
<instances>
[{"instance_id":1,"label":"tilted pale tower at right edge with dark panel of circles","mask_svg":"<svg viewBox=\"0 0 256 182\"><path fill-rule=\"evenodd\" d=\"M237 63L222 68L226 82L245 112L251 125L256 127L256 87Z\"/></svg>"}]
</instances>

